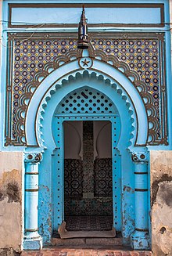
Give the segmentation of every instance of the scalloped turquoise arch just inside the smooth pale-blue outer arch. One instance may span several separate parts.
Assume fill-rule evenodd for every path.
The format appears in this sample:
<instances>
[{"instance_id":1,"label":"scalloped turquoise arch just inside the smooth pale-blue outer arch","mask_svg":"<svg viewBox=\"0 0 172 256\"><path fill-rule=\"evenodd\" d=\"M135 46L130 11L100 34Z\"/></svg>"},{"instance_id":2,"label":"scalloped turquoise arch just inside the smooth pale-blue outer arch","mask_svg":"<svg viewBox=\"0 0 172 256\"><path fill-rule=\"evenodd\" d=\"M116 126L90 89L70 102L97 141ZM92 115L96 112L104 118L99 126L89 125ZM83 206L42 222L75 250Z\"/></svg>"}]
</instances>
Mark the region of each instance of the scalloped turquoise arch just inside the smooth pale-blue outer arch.
<instances>
[{"instance_id":1,"label":"scalloped turquoise arch just inside the smooth pale-blue outer arch","mask_svg":"<svg viewBox=\"0 0 172 256\"><path fill-rule=\"evenodd\" d=\"M48 106L48 103L52 100L53 97L56 98L55 95L59 96L58 100L56 98L54 105L52 103L53 108L51 107L52 114L50 118L50 120L52 120L53 113L56 110L56 106L60 103L60 101L64 98L64 96L66 96L66 94L68 94L69 92L76 90L77 88L83 87L85 85L85 82L87 81L89 87L91 87L90 85L94 84L92 88L95 88L100 92L109 96L109 98L113 101L114 104L116 104L116 99L120 99L120 103L123 103L123 109L121 108L119 110L119 106L116 106L116 107L119 110L121 119L130 118L131 135L129 138L130 142L128 142L128 146L131 146L131 145L134 146L135 141L137 139L137 127L138 127L137 118L136 118L137 114L135 113L133 103L130 97L125 92L124 88L121 88L120 85L112 81L112 79L107 78L106 76L103 76L103 74L96 74L95 71L90 73L88 72L88 70L87 71L82 70L82 72L77 71L74 74L69 74L67 78L68 79L63 78L60 81L58 81L58 83L54 83L54 85L52 85L52 87L45 94L44 98L41 100L41 104L39 106L38 114L37 114L37 121L36 121L36 131L38 131L37 132L38 145L43 148L46 148L45 135L44 135L44 132L45 132L44 114ZM146 126L147 124L143 124L142 128L145 129ZM52 132L51 128L49 129L48 132ZM143 142L145 142L146 138L147 138L147 135L145 135ZM51 145L53 145L52 147L54 148L56 147L53 139L52 139Z\"/></svg>"}]
</instances>

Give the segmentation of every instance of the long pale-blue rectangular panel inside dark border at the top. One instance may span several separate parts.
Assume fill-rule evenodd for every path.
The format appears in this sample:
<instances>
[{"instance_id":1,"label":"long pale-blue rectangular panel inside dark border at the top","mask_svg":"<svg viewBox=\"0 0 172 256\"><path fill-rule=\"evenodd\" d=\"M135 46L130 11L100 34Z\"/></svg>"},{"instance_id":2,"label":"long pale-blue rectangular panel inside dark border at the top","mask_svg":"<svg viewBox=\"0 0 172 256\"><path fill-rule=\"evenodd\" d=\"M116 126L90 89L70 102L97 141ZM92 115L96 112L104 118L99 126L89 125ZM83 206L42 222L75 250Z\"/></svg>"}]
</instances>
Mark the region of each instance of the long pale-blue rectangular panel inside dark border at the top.
<instances>
[{"instance_id":1,"label":"long pale-blue rectangular panel inside dark border at the top","mask_svg":"<svg viewBox=\"0 0 172 256\"><path fill-rule=\"evenodd\" d=\"M52 13L46 16L46 13ZM62 15L63 13L63 15ZM160 23L160 8L86 8L89 23ZM107 15L108 13L108 15ZM30 17L31 15L31 17ZM12 22L27 23L79 23L81 8L13 8ZM31 20L31 22L30 22ZM139 27L139 25L138 25Z\"/></svg>"}]
</instances>

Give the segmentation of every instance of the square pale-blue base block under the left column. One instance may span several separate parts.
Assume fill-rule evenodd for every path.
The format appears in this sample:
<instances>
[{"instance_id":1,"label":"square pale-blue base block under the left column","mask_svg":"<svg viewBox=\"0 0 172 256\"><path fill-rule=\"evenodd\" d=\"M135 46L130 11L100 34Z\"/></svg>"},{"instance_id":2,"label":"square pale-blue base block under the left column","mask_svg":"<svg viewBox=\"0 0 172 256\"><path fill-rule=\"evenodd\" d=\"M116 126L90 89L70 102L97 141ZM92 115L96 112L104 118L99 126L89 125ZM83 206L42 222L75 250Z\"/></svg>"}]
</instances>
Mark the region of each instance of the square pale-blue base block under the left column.
<instances>
[{"instance_id":1,"label":"square pale-blue base block under the left column","mask_svg":"<svg viewBox=\"0 0 172 256\"><path fill-rule=\"evenodd\" d=\"M37 237L27 237L23 238L23 250L41 250L42 248L42 238Z\"/></svg>"}]
</instances>

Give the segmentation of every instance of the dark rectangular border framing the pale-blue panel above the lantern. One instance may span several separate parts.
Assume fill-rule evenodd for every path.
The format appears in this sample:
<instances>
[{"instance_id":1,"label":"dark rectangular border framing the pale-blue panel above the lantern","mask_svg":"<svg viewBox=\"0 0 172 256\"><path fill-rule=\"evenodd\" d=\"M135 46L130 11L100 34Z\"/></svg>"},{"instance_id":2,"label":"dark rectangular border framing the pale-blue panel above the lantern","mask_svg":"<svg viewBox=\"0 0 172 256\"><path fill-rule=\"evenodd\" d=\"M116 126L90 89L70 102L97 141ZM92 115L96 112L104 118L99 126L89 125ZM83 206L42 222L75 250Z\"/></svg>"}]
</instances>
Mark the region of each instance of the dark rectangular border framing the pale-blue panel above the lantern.
<instances>
[{"instance_id":1,"label":"dark rectangular border framing the pale-blue panel above the lantern","mask_svg":"<svg viewBox=\"0 0 172 256\"><path fill-rule=\"evenodd\" d=\"M35 9L64 9L64 8L75 8L75 9L81 9L81 3L73 3L73 4L9 4L9 27L15 27L15 28L20 28L20 27L30 27L33 25L33 23L24 24L21 22L21 24L13 24L13 9L20 9L20 8L35 8ZM85 4L85 9L93 9L93 8L109 8L109 9L119 9L117 13L120 12L120 9L130 9L128 10L128 15L131 14L131 10L133 9L160 9L159 13L159 23L147 23L146 19L145 22L140 22L140 16L138 18L138 23L128 23L127 21L125 23L116 23L116 22L109 22L109 23L89 23L89 27L164 27L164 5L163 4L115 4L115 3L99 3L99 4ZM142 14L142 12L141 12ZM125 14L127 17L127 14ZM131 14L131 17L135 16L135 12ZM80 16L78 17L80 18ZM37 25L37 24L36 24ZM77 20L76 23L46 23L45 25L42 24L41 27L77 27Z\"/></svg>"}]
</instances>

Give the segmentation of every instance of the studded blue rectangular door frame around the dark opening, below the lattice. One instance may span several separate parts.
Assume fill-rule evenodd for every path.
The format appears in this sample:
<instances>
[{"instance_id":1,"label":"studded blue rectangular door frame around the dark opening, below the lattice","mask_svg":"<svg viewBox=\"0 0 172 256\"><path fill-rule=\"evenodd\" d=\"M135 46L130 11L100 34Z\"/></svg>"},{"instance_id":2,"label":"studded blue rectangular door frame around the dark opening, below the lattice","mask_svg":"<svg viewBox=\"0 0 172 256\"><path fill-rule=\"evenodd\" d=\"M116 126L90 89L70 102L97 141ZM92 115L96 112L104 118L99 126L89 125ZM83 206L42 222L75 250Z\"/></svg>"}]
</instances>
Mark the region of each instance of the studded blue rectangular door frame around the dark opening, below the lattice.
<instances>
[{"instance_id":1,"label":"studded blue rectangular door frame around the dark opening, below the lattice","mask_svg":"<svg viewBox=\"0 0 172 256\"><path fill-rule=\"evenodd\" d=\"M112 125L113 163L113 226L121 231L121 170L120 152L116 149L120 138L120 116L118 114L56 114L56 168L52 175L53 186L53 229L57 231L64 221L64 121L110 121ZM118 170L116 172L116 170Z\"/></svg>"}]
</instances>

